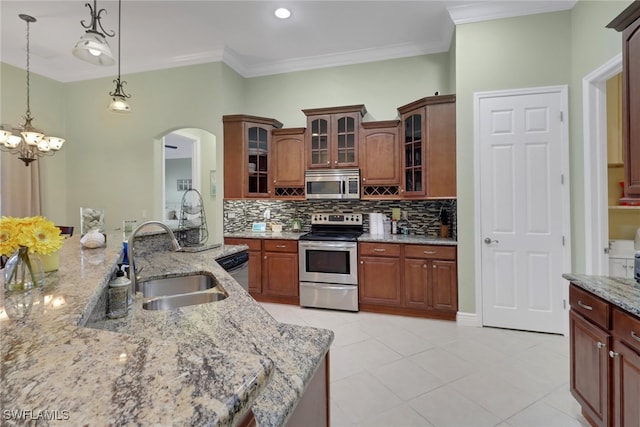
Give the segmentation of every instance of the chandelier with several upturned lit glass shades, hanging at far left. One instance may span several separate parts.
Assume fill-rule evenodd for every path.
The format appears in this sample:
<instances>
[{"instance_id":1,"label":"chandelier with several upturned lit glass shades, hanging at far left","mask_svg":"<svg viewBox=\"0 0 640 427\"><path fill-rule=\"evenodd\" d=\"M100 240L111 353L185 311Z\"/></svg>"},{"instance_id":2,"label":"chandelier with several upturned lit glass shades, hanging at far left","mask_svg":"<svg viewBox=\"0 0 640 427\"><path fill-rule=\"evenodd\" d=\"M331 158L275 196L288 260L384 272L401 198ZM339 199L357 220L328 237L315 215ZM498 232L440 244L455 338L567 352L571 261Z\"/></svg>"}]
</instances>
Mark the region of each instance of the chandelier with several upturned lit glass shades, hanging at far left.
<instances>
[{"instance_id":1,"label":"chandelier with several upturned lit glass shades, hanging at far left","mask_svg":"<svg viewBox=\"0 0 640 427\"><path fill-rule=\"evenodd\" d=\"M29 98L29 24L36 22L36 18L30 15L20 14L20 19L27 23L27 112L23 116L24 123L11 131L0 127L0 150L16 154L25 166L45 155L52 156L62 148L64 139L55 136L47 136L33 127L31 122L30 98Z\"/></svg>"}]
</instances>

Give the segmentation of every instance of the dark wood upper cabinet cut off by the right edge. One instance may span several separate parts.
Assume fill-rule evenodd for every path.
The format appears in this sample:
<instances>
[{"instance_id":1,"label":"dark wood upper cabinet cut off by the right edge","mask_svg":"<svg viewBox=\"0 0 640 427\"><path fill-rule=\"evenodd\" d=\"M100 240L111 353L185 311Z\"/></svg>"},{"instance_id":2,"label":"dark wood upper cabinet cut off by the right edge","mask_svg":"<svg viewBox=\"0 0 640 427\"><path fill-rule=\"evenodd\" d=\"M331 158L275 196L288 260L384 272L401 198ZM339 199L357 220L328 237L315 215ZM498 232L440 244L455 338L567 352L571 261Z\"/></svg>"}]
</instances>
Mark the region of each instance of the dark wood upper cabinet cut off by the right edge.
<instances>
[{"instance_id":1,"label":"dark wood upper cabinet cut off by the right edge","mask_svg":"<svg viewBox=\"0 0 640 427\"><path fill-rule=\"evenodd\" d=\"M640 205L640 2L634 1L607 27L622 33L622 204Z\"/></svg>"}]
</instances>

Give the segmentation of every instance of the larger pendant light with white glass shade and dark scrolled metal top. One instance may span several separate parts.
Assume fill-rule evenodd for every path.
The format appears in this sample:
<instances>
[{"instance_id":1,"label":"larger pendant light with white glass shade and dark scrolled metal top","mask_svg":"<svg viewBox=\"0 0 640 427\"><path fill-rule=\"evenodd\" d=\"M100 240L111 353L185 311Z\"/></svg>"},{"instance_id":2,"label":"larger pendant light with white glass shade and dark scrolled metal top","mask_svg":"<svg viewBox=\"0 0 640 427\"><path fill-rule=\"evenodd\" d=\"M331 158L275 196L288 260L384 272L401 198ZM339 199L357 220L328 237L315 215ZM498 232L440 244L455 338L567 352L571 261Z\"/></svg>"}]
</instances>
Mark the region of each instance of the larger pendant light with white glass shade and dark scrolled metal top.
<instances>
[{"instance_id":1,"label":"larger pendant light with white glass shade and dark scrolled metal top","mask_svg":"<svg viewBox=\"0 0 640 427\"><path fill-rule=\"evenodd\" d=\"M80 24L84 28L87 28L87 31L80 37L80 40L73 48L73 55L76 58L94 65L110 66L115 64L116 60L105 38L113 37L115 33L109 33L102 27L102 23L100 23L102 12L106 13L106 11L104 9L98 10L97 0L93 0L93 7L91 7L89 3L85 3L84 5L90 10L91 22L85 24L84 19L80 21ZM98 27L102 32L98 31Z\"/></svg>"}]
</instances>

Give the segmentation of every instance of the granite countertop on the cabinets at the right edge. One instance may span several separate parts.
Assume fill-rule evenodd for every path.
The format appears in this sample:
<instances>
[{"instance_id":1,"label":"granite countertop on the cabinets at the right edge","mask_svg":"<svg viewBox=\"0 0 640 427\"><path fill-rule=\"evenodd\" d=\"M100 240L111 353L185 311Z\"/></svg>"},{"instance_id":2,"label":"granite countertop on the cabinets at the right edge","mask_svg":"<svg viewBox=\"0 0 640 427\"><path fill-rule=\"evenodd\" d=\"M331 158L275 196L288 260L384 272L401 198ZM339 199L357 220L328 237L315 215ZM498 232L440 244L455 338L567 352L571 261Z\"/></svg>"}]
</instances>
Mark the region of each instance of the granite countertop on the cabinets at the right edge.
<instances>
[{"instance_id":1,"label":"granite countertop on the cabinets at the right edge","mask_svg":"<svg viewBox=\"0 0 640 427\"><path fill-rule=\"evenodd\" d=\"M586 274L563 274L576 286L640 317L640 283L634 279Z\"/></svg>"}]
</instances>

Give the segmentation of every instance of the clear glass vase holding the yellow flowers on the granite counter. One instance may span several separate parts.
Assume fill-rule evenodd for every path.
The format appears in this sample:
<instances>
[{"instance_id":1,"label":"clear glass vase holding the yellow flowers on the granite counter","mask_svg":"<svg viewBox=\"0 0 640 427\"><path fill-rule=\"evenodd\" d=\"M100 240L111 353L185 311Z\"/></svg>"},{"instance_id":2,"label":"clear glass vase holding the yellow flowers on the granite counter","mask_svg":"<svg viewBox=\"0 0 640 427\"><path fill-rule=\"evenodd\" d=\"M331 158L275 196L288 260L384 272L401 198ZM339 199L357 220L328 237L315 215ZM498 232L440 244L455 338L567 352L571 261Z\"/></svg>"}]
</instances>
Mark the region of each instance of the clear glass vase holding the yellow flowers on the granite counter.
<instances>
[{"instance_id":1,"label":"clear glass vase holding the yellow flowers on the granite counter","mask_svg":"<svg viewBox=\"0 0 640 427\"><path fill-rule=\"evenodd\" d=\"M8 291L31 289L44 283L44 266L36 254L30 254L29 248L20 248L9 257L4 267L4 287Z\"/></svg>"}]
</instances>

